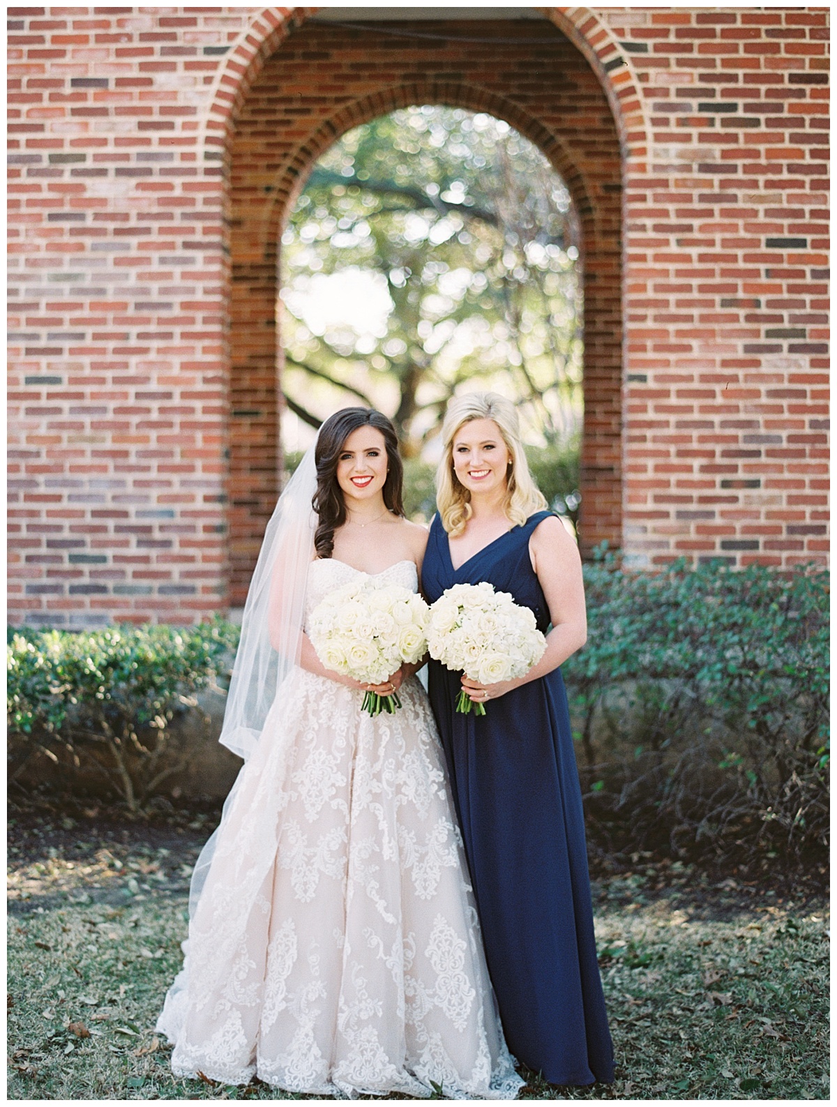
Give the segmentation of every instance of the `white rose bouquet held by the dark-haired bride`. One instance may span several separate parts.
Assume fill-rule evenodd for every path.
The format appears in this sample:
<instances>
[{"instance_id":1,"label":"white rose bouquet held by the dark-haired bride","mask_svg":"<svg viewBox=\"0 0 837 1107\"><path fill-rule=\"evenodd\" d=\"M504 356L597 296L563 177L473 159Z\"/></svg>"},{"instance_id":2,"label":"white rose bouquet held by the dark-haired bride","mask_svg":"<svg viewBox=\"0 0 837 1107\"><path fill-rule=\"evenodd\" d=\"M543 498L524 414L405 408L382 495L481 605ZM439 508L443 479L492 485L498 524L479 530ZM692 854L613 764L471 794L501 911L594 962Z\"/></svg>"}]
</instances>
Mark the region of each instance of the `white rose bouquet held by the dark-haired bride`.
<instances>
[{"instance_id":1,"label":"white rose bouquet held by the dark-haired bride","mask_svg":"<svg viewBox=\"0 0 837 1107\"><path fill-rule=\"evenodd\" d=\"M368 579L330 592L311 613L308 637L327 669L362 684L382 684L402 664L424 655L428 615L421 596ZM394 692L366 692L363 700L371 715L400 706Z\"/></svg>"}]
</instances>

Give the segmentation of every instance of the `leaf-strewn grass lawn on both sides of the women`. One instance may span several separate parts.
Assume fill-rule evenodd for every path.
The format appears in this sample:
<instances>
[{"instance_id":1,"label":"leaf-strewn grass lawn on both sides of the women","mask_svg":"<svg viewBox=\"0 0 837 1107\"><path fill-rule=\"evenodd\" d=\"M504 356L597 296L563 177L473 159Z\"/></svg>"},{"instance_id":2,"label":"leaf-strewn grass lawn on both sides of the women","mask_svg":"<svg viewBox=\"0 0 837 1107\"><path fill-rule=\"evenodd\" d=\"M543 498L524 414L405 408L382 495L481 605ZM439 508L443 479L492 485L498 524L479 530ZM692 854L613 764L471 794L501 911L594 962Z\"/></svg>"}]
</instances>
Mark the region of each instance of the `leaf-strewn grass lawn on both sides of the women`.
<instances>
[{"instance_id":1,"label":"leaf-strewn grass lawn on both sides of the women","mask_svg":"<svg viewBox=\"0 0 837 1107\"><path fill-rule=\"evenodd\" d=\"M18 814L10 1099L308 1098L175 1079L154 1034L210 821ZM827 1099L825 893L637 860L593 882L617 1079L554 1088L529 1074L521 1098Z\"/></svg>"}]
</instances>

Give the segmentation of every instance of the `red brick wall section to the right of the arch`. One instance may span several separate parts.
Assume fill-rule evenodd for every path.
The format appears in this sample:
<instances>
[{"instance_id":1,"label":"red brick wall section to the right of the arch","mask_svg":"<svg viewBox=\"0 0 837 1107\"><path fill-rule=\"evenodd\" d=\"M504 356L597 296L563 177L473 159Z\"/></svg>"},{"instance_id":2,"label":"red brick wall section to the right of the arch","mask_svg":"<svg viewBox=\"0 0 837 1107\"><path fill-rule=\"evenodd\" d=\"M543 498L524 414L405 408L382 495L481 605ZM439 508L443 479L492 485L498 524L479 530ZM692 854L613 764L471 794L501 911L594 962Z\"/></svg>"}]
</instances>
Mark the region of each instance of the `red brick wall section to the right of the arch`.
<instances>
[{"instance_id":1,"label":"red brick wall section to the right of the arch","mask_svg":"<svg viewBox=\"0 0 837 1107\"><path fill-rule=\"evenodd\" d=\"M626 182L626 546L823 560L827 12L608 21L652 135Z\"/></svg>"}]
</instances>

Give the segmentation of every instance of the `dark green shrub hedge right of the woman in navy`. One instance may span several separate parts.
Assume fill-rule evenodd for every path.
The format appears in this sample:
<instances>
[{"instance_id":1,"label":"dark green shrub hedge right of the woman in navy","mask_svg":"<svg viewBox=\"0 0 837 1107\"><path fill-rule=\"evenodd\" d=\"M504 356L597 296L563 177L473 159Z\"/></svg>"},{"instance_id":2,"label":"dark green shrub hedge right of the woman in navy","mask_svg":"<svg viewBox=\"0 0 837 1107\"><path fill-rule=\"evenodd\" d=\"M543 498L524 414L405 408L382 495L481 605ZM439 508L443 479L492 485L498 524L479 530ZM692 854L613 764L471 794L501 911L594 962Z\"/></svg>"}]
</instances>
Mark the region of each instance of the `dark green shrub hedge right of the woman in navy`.
<instances>
[{"instance_id":1,"label":"dark green shrub hedge right of the woman in navy","mask_svg":"<svg viewBox=\"0 0 837 1107\"><path fill-rule=\"evenodd\" d=\"M634 848L825 845L828 575L611 560L585 579L564 674L591 816Z\"/></svg>"}]
</instances>

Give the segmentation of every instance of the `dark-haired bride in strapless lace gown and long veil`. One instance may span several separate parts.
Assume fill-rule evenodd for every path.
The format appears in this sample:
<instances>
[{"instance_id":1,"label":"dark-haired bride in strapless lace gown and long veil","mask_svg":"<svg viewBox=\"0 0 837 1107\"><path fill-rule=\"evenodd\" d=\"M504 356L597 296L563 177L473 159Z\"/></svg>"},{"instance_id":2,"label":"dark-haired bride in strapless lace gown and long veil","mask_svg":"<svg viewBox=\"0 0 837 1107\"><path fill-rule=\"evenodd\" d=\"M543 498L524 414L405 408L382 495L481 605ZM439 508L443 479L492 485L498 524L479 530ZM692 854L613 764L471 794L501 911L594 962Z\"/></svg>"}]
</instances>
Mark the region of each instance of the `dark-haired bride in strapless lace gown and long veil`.
<instances>
[{"instance_id":1,"label":"dark-haired bride in strapless lace gown and long veil","mask_svg":"<svg viewBox=\"0 0 837 1107\"><path fill-rule=\"evenodd\" d=\"M395 433L350 407L279 499L245 608L221 742L246 758L193 877L157 1030L172 1068L309 1095L513 1099L426 694L323 668L304 622L358 577L418 587ZM313 509L312 509L313 507ZM399 690L393 715L361 712Z\"/></svg>"}]
</instances>

